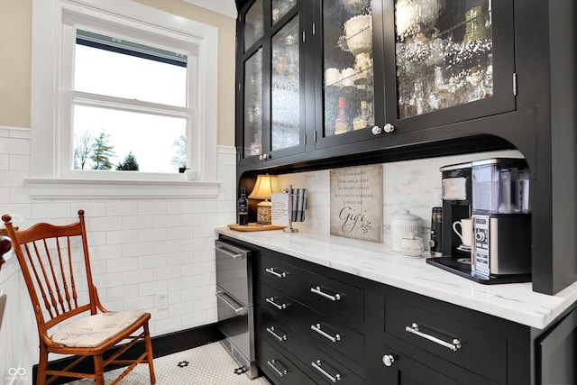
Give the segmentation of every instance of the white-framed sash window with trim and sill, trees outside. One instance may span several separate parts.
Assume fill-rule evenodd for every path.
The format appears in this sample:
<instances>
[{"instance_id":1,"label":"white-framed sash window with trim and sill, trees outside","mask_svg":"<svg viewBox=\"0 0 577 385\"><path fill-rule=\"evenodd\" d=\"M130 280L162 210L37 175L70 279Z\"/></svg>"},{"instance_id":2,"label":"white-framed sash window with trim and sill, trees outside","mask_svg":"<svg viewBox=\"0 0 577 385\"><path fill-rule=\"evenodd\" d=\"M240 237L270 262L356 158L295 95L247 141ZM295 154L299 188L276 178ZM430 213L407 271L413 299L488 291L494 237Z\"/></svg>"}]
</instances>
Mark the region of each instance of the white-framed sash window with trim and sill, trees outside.
<instances>
[{"instance_id":1,"label":"white-framed sash window with trim and sill, trees outside","mask_svg":"<svg viewBox=\"0 0 577 385\"><path fill-rule=\"evenodd\" d=\"M216 194L214 27L129 0L33 0L32 19L31 197Z\"/></svg>"}]
</instances>

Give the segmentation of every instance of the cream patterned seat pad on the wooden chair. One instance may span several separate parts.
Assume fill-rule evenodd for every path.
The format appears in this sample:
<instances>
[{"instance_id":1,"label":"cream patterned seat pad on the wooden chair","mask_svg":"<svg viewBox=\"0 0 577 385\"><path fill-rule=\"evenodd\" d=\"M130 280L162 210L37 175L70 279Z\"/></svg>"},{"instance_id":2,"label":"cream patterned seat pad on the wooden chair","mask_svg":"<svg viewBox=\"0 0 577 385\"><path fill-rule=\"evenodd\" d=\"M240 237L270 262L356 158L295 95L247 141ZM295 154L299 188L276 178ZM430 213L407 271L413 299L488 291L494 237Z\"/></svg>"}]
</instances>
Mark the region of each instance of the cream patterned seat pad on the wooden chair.
<instances>
[{"instance_id":1,"label":"cream patterned seat pad on the wooden chair","mask_svg":"<svg viewBox=\"0 0 577 385\"><path fill-rule=\"evenodd\" d=\"M52 335L52 341L69 347L95 347L133 325L145 313L121 311L77 319Z\"/></svg>"}]
</instances>

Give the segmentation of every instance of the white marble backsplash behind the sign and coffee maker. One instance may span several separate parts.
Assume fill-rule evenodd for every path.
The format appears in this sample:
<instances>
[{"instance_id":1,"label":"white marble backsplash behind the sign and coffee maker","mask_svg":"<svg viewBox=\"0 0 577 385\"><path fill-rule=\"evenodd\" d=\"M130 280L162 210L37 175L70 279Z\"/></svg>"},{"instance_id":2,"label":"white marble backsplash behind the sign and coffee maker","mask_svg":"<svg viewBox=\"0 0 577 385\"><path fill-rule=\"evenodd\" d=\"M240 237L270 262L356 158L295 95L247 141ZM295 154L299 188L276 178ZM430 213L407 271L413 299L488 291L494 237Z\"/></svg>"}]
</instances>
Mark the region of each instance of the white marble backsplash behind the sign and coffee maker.
<instances>
[{"instance_id":1,"label":"white marble backsplash behind the sign and coffee maker","mask_svg":"<svg viewBox=\"0 0 577 385\"><path fill-rule=\"evenodd\" d=\"M441 206L441 172L449 165L488 158L522 158L519 151L488 151L466 155L404 160L383 163L383 243L391 243L390 223L398 210L408 209L418 215L423 224L421 236L430 238L431 209ZM280 188L308 189L305 222L293 227L303 233L330 233L329 170L300 172L279 176ZM428 245L426 244L428 250Z\"/></svg>"}]
</instances>

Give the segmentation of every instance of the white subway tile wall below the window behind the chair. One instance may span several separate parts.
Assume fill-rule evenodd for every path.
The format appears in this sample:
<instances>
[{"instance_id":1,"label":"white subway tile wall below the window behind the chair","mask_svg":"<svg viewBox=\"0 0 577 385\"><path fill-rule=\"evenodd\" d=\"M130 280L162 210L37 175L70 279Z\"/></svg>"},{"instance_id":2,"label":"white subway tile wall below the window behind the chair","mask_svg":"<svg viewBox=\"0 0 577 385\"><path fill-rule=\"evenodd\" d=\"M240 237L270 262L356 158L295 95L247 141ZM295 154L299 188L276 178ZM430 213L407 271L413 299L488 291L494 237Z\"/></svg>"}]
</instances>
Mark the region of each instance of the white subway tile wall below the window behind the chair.
<instances>
[{"instance_id":1,"label":"white subway tile wall below the window behind the chair","mask_svg":"<svg viewBox=\"0 0 577 385\"><path fill-rule=\"evenodd\" d=\"M214 228L235 221L235 175L235 151L221 147L221 185L214 199L32 200L25 181L30 131L0 127L0 215L23 215L25 228L39 221L70 223L79 209L85 210L101 301L111 310L151 312L151 335L216 321ZM0 341L11 335L19 343L0 344L0 356L13 357L0 362L0 379L9 367L38 362L38 343L28 337L36 335L32 306L17 261L12 258L5 266L0 287L8 291L8 301ZM169 307L157 310L154 298L163 292Z\"/></svg>"}]
</instances>

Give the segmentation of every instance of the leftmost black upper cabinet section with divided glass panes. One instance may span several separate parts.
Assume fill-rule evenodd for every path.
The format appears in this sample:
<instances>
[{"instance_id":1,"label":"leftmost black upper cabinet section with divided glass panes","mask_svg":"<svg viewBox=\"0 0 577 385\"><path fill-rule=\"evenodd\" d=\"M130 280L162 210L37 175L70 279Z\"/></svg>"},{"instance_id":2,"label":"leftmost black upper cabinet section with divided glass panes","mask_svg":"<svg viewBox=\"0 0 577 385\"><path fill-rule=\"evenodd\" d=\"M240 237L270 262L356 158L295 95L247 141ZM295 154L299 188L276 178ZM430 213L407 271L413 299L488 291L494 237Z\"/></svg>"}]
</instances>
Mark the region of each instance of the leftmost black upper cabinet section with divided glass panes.
<instances>
[{"instance_id":1,"label":"leftmost black upper cabinet section with divided glass panes","mask_svg":"<svg viewBox=\"0 0 577 385\"><path fill-rule=\"evenodd\" d=\"M256 0L241 10L236 97L241 164L305 151L304 3Z\"/></svg>"}]
</instances>

